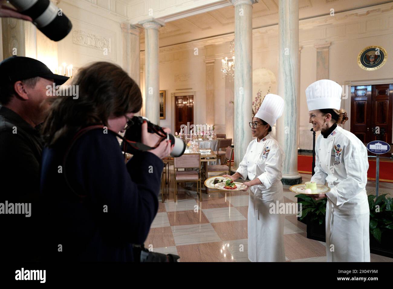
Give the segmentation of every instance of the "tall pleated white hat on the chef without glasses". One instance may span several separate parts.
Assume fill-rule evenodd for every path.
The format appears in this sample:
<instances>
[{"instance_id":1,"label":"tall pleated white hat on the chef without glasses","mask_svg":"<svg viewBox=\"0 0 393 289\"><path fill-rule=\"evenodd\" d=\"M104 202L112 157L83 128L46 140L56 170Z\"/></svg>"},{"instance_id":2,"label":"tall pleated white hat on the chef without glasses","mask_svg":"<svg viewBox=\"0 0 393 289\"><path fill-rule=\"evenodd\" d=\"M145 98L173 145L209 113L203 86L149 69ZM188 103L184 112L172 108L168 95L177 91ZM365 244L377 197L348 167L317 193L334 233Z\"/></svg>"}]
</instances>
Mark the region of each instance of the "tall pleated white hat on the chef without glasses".
<instances>
[{"instance_id":1,"label":"tall pleated white hat on the chef without glasses","mask_svg":"<svg viewBox=\"0 0 393 289\"><path fill-rule=\"evenodd\" d=\"M338 83L321 79L306 88L309 111L316 109L340 109L342 87Z\"/></svg>"}]
</instances>

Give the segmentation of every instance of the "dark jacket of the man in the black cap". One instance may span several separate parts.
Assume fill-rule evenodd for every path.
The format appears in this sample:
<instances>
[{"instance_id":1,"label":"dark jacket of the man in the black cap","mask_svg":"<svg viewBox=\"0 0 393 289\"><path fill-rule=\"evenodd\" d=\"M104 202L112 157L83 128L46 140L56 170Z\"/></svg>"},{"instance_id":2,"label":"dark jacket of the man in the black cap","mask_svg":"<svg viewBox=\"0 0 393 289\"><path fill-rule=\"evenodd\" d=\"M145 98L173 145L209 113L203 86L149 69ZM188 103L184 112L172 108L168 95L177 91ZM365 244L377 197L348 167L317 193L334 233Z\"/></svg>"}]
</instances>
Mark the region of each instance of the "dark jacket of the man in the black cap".
<instances>
[{"instance_id":1,"label":"dark jacket of the man in the black cap","mask_svg":"<svg viewBox=\"0 0 393 289\"><path fill-rule=\"evenodd\" d=\"M0 214L0 261L37 261L42 140L38 128L0 105L0 203L31 204L26 214ZM3 205L4 206L4 205Z\"/></svg>"}]
</instances>

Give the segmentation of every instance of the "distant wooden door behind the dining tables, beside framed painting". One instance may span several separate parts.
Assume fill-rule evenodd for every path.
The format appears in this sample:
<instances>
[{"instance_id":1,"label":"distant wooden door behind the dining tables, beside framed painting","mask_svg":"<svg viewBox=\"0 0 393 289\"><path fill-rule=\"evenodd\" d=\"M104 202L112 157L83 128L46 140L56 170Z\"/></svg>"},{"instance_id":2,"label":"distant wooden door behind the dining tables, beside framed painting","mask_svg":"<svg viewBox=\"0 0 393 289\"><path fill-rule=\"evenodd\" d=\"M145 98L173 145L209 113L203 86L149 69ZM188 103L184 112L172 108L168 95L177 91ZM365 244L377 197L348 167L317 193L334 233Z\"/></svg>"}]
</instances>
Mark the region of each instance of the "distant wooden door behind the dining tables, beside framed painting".
<instances>
[{"instance_id":1,"label":"distant wooden door behind the dining tables, beside framed painting","mask_svg":"<svg viewBox=\"0 0 393 289\"><path fill-rule=\"evenodd\" d=\"M181 125L194 124L194 96L184 95L175 98L175 131L180 132ZM189 129L189 127L188 127ZM186 132L184 132L186 133Z\"/></svg>"}]
</instances>

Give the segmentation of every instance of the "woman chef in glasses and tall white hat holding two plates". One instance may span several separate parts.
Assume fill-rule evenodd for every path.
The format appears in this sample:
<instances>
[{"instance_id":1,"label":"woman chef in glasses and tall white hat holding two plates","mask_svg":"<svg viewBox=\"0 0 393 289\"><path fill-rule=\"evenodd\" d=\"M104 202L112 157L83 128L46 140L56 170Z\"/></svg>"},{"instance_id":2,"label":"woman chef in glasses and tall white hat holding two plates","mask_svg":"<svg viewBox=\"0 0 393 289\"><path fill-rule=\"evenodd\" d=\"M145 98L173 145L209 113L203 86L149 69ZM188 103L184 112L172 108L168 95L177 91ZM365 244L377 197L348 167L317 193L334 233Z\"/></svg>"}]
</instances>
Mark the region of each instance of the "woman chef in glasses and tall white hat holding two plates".
<instances>
[{"instance_id":1,"label":"woman chef in glasses and tall white hat holding two plates","mask_svg":"<svg viewBox=\"0 0 393 289\"><path fill-rule=\"evenodd\" d=\"M284 202L281 169L285 155L270 131L283 114L284 100L275 94L267 94L257 114L250 122L252 140L246 155L233 175L224 177L246 180L250 187L248 205L248 259L252 262L285 262L284 214L272 206ZM248 189L248 188L247 188ZM246 189L246 190L247 190ZM272 214L271 212L277 212Z\"/></svg>"}]
</instances>

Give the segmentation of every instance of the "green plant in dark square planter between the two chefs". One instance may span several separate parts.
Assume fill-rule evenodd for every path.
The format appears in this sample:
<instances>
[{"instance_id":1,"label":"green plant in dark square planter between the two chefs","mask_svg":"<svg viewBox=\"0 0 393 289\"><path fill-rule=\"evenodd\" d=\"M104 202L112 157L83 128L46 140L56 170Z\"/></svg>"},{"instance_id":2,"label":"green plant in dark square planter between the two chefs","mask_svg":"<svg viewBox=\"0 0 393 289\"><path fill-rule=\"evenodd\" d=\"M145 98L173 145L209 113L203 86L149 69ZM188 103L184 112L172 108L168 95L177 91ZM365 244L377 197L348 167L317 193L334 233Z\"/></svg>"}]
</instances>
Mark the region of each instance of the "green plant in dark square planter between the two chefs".
<instances>
[{"instance_id":1,"label":"green plant in dark square planter between the two chefs","mask_svg":"<svg viewBox=\"0 0 393 289\"><path fill-rule=\"evenodd\" d=\"M299 194L295 197L298 198L298 204L301 204L300 220L306 220L307 238L325 242L325 213L327 199L315 201L312 197L305 194Z\"/></svg>"}]
</instances>

